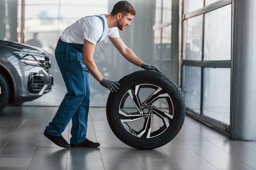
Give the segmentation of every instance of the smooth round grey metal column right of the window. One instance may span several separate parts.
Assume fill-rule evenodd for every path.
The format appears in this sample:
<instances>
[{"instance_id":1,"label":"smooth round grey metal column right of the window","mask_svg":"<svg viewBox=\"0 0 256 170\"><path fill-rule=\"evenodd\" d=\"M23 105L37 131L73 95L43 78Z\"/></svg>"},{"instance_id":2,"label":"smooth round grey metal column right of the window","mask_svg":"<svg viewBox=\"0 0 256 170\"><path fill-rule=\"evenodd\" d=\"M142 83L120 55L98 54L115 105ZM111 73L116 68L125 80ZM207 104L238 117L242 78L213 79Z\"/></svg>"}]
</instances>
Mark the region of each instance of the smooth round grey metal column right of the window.
<instances>
[{"instance_id":1,"label":"smooth round grey metal column right of the window","mask_svg":"<svg viewBox=\"0 0 256 170\"><path fill-rule=\"evenodd\" d=\"M256 0L234 0L231 138L256 140Z\"/></svg>"}]
</instances>

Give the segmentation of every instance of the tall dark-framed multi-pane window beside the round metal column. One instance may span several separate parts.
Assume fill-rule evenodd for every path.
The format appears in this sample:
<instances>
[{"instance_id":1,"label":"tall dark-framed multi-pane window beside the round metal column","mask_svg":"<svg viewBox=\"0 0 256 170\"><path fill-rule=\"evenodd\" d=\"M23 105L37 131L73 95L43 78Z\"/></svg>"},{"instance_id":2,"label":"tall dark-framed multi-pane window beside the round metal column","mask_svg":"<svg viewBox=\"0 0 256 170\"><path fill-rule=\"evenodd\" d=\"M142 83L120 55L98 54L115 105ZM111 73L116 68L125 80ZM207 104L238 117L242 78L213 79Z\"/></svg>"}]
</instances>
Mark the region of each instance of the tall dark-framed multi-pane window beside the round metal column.
<instances>
[{"instance_id":1,"label":"tall dark-framed multi-pane window beside the round metal column","mask_svg":"<svg viewBox=\"0 0 256 170\"><path fill-rule=\"evenodd\" d=\"M187 113L225 131L216 124L230 124L231 0L183 3L182 91Z\"/></svg>"}]
</instances>

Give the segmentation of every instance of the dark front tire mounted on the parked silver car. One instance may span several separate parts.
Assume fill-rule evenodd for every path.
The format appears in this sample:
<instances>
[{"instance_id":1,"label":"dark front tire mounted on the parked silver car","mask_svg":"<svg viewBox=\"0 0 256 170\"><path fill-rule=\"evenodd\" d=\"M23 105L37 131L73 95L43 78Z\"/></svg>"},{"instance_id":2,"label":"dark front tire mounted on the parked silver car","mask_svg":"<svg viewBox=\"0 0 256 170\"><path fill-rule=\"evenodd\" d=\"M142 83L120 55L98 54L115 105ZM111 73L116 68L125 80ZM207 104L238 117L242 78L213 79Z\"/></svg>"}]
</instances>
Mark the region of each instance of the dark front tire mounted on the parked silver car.
<instances>
[{"instance_id":1,"label":"dark front tire mounted on the parked silver car","mask_svg":"<svg viewBox=\"0 0 256 170\"><path fill-rule=\"evenodd\" d=\"M0 112L4 110L9 102L10 88L7 79L0 73Z\"/></svg>"}]
</instances>

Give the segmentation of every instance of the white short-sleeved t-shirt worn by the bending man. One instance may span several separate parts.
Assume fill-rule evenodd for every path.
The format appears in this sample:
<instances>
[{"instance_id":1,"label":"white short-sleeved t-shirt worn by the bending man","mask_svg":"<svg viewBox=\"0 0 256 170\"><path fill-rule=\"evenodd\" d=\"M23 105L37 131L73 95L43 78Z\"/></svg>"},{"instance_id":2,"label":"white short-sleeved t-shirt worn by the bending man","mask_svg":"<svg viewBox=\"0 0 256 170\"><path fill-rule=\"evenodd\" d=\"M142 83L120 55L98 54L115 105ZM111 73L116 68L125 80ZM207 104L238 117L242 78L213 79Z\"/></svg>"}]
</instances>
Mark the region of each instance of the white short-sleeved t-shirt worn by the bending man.
<instances>
[{"instance_id":1,"label":"white short-sleeved t-shirt worn by the bending man","mask_svg":"<svg viewBox=\"0 0 256 170\"><path fill-rule=\"evenodd\" d=\"M77 20L74 24L70 25L61 33L61 40L67 43L83 44L84 40L88 40L92 44L96 45L104 40L106 37L116 38L119 37L117 27L109 28L105 14L101 16L105 21L105 28L103 32L103 24L97 16L87 16ZM102 34L103 32L103 34Z\"/></svg>"}]
</instances>

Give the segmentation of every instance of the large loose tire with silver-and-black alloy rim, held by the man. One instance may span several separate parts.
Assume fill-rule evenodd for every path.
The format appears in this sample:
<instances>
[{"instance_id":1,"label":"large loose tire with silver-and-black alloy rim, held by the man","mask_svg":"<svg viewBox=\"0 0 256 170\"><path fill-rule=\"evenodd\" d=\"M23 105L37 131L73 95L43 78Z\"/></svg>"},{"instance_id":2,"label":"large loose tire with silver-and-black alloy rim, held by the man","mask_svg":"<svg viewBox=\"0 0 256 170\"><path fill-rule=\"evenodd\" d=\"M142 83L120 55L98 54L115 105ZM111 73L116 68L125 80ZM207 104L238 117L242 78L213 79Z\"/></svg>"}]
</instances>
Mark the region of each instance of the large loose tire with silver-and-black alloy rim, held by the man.
<instances>
[{"instance_id":1,"label":"large loose tire with silver-and-black alloy rim, held by the man","mask_svg":"<svg viewBox=\"0 0 256 170\"><path fill-rule=\"evenodd\" d=\"M156 71L136 71L119 80L106 114L111 130L133 148L159 148L180 131L186 115L179 87Z\"/></svg>"}]
</instances>

